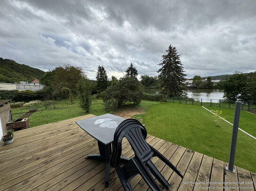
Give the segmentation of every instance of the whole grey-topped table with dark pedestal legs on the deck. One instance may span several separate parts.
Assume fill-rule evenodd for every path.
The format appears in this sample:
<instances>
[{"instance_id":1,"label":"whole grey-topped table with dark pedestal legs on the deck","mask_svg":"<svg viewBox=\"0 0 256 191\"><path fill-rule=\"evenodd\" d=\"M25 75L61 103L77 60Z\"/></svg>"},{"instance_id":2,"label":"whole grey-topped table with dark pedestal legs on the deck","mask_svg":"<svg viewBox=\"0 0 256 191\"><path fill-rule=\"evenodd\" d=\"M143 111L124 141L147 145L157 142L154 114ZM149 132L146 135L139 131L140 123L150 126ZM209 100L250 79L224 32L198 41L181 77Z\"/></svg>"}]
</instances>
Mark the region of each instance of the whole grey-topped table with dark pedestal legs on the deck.
<instances>
[{"instance_id":1,"label":"whole grey-topped table with dark pedestal legs on the deck","mask_svg":"<svg viewBox=\"0 0 256 191\"><path fill-rule=\"evenodd\" d=\"M105 114L76 122L79 127L98 141L99 154L90 154L85 158L106 161L105 187L109 185L110 157L114 134L118 125L124 120L123 117ZM127 162L129 159L121 157L121 160Z\"/></svg>"}]
</instances>

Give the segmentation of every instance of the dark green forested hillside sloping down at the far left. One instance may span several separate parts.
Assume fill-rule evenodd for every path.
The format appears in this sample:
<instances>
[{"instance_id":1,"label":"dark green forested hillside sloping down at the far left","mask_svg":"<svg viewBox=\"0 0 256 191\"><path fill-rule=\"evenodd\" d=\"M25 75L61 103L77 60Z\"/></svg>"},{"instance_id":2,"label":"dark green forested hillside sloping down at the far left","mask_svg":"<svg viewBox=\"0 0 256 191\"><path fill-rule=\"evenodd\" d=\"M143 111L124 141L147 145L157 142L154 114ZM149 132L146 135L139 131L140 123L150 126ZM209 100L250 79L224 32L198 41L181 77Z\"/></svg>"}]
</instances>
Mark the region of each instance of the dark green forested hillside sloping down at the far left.
<instances>
[{"instance_id":1,"label":"dark green forested hillside sloping down at the far left","mask_svg":"<svg viewBox=\"0 0 256 191\"><path fill-rule=\"evenodd\" d=\"M32 82L34 78L40 79L44 71L35 69L25 64L0 57L0 82L19 84L20 81Z\"/></svg>"}]
</instances>

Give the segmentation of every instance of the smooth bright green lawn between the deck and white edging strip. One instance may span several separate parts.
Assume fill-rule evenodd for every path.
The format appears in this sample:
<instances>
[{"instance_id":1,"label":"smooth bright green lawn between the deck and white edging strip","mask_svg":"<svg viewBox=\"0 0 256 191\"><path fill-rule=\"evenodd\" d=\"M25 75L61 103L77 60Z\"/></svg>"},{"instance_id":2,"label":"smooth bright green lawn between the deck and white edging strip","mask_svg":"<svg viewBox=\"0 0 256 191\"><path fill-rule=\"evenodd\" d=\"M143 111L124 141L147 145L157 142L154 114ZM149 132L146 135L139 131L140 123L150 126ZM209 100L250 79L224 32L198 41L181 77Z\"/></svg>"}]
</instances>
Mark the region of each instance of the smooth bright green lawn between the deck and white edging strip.
<instances>
[{"instance_id":1,"label":"smooth bright green lawn between the deck and white edging strip","mask_svg":"<svg viewBox=\"0 0 256 191\"><path fill-rule=\"evenodd\" d=\"M142 118L148 134L228 162L232 126L221 121L217 127L211 115L200 106L162 103L149 106ZM244 118L247 115L241 115L241 121L247 120ZM239 131L235 165L256 172L255 148L256 140Z\"/></svg>"}]
</instances>

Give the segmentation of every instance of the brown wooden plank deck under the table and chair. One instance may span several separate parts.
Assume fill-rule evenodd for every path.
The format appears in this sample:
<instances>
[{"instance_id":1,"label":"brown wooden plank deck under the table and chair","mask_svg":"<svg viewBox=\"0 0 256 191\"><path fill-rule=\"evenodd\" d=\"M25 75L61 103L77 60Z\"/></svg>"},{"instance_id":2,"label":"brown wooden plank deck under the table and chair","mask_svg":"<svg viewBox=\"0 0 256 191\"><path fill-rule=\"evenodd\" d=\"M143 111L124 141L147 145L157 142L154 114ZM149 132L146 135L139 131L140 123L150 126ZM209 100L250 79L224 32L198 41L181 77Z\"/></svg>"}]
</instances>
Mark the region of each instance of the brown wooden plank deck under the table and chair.
<instances>
[{"instance_id":1,"label":"brown wooden plank deck under the table and chair","mask_svg":"<svg viewBox=\"0 0 256 191\"><path fill-rule=\"evenodd\" d=\"M84 159L90 153L99 152L97 141L75 123L92 116L20 130L15 132L13 143L0 144L0 191L104 190L105 163ZM184 174L182 179L162 161L152 159L171 184L169 191L255 191L256 173L235 167L233 174L225 170L223 161L154 136L148 135L147 142ZM123 142L123 155L133 156L127 140ZM231 181L234 182L225 184L227 188L223 189L222 182ZM132 186L135 191L149 190L138 175L132 179ZM106 190L123 190L114 168Z\"/></svg>"}]
</instances>

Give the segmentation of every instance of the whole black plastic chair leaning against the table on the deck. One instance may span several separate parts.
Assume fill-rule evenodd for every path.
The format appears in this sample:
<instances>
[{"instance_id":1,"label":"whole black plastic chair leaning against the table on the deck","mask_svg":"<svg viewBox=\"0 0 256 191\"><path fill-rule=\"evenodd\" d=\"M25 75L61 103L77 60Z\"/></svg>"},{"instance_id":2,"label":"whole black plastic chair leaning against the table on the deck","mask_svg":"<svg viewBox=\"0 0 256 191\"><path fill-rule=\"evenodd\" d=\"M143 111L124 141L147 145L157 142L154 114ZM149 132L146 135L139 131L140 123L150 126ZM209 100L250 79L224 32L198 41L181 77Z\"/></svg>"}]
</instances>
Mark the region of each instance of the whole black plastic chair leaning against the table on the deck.
<instances>
[{"instance_id":1,"label":"whole black plastic chair leaning against the table on the deck","mask_svg":"<svg viewBox=\"0 0 256 191\"><path fill-rule=\"evenodd\" d=\"M165 164L167 164L173 169L174 172L183 178L182 174L169 160L167 160L161 153L159 153L145 141L146 136L147 130L139 121L135 119L124 120L116 129L111 164L116 168L116 172L125 191L132 191L131 179L137 174L140 174L151 190L160 191L161 189L149 171L163 186L165 186L165 188L168 189L170 187L170 184L165 180L165 178L150 160L154 156L157 156L159 159L163 160ZM122 139L124 137L127 138L132 146L135 157L128 160L128 162L121 167L119 162L122 153Z\"/></svg>"}]
</instances>

